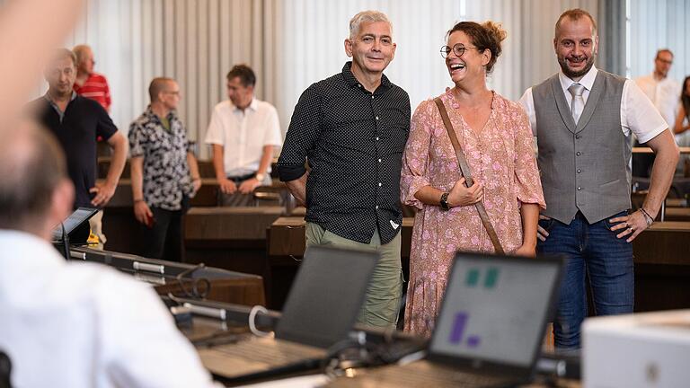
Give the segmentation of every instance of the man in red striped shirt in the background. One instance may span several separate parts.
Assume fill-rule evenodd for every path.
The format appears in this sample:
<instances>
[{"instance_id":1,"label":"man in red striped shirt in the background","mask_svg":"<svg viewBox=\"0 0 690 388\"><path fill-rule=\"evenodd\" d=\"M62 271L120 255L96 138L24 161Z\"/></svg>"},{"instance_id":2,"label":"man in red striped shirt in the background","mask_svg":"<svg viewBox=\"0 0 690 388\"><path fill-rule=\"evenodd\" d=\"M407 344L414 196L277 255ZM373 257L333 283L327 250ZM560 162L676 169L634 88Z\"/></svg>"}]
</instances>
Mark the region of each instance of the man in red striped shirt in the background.
<instances>
[{"instance_id":1,"label":"man in red striped shirt in the background","mask_svg":"<svg viewBox=\"0 0 690 388\"><path fill-rule=\"evenodd\" d=\"M93 72L93 51L87 45L72 48L76 56L76 80L74 90L77 94L98 101L103 109L111 112L111 91L103 75Z\"/></svg>"}]
</instances>

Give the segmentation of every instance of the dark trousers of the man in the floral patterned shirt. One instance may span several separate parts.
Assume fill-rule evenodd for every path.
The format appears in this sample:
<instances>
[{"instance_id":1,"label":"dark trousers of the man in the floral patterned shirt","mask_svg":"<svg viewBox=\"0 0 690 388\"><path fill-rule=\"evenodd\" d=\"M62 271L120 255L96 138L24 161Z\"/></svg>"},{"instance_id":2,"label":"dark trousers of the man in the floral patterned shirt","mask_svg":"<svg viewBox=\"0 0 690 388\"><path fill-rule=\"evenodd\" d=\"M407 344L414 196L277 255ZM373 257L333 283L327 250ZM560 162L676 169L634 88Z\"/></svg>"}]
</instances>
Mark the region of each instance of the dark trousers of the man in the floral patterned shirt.
<instances>
[{"instance_id":1,"label":"dark trousers of the man in the floral patterned shirt","mask_svg":"<svg viewBox=\"0 0 690 388\"><path fill-rule=\"evenodd\" d=\"M186 202L186 201L183 201ZM181 210L165 210L151 207L154 214L154 225L142 225L144 248L142 256L150 259L184 261L184 215L186 203Z\"/></svg>"}]
</instances>

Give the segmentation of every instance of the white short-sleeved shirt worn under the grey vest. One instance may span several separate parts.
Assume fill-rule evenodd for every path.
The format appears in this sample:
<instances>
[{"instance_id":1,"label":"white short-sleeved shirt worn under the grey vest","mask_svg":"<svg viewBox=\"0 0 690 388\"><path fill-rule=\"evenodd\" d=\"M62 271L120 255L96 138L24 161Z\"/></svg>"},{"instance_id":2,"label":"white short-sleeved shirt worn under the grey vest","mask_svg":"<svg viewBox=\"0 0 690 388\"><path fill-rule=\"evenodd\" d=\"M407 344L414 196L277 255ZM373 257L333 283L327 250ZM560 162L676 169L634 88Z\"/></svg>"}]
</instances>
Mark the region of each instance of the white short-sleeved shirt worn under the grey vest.
<instances>
[{"instance_id":1,"label":"white short-sleeved shirt worn under the grey vest","mask_svg":"<svg viewBox=\"0 0 690 388\"><path fill-rule=\"evenodd\" d=\"M579 84L585 86L585 91L582 93L585 104L587 104L594 80L597 78L597 71L597 67L592 66L588 73L579 80ZM570 107L572 95L568 92L568 88L571 87L571 84L575 84L575 81L562 72L558 73L558 78L561 81L565 101L568 101ZM532 88L525 91L519 102L525 109L529 117L529 124L532 126L532 133L536 136L535 100L532 96ZM621 130L623 130L624 135L627 137L632 131L640 143L646 143L657 137L666 128L668 128L666 121L659 115L659 111L654 108L650 99L642 93L634 82L625 80L621 99Z\"/></svg>"}]
</instances>

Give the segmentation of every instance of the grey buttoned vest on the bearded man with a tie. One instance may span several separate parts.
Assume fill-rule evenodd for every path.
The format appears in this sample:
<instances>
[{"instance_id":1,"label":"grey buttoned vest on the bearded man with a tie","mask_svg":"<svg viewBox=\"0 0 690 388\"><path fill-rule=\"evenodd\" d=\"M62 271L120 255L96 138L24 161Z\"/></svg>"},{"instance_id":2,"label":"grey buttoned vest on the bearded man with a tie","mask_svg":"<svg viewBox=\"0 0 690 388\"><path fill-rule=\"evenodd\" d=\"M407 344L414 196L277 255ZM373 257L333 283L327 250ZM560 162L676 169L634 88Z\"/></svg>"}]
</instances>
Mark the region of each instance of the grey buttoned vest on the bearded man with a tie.
<instances>
[{"instance_id":1,"label":"grey buttoned vest on the bearded man with a tie","mask_svg":"<svg viewBox=\"0 0 690 388\"><path fill-rule=\"evenodd\" d=\"M576 126L558 75L532 88L546 210L570 225L593 224L630 206L630 136L621 129L625 79L599 70Z\"/></svg>"}]
</instances>

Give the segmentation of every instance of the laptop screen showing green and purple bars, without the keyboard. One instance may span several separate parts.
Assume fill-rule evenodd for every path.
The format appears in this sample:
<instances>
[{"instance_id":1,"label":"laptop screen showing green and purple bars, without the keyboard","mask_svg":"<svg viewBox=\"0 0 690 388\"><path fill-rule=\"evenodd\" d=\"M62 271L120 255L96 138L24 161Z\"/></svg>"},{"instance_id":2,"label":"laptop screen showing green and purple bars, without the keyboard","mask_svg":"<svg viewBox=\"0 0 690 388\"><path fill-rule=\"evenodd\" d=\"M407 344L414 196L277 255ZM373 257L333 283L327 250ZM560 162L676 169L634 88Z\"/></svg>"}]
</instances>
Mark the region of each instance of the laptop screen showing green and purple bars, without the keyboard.
<instances>
[{"instance_id":1,"label":"laptop screen showing green and purple bars, without the keyboard","mask_svg":"<svg viewBox=\"0 0 690 388\"><path fill-rule=\"evenodd\" d=\"M456 254L430 353L530 367L562 260Z\"/></svg>"}]
</instances>

